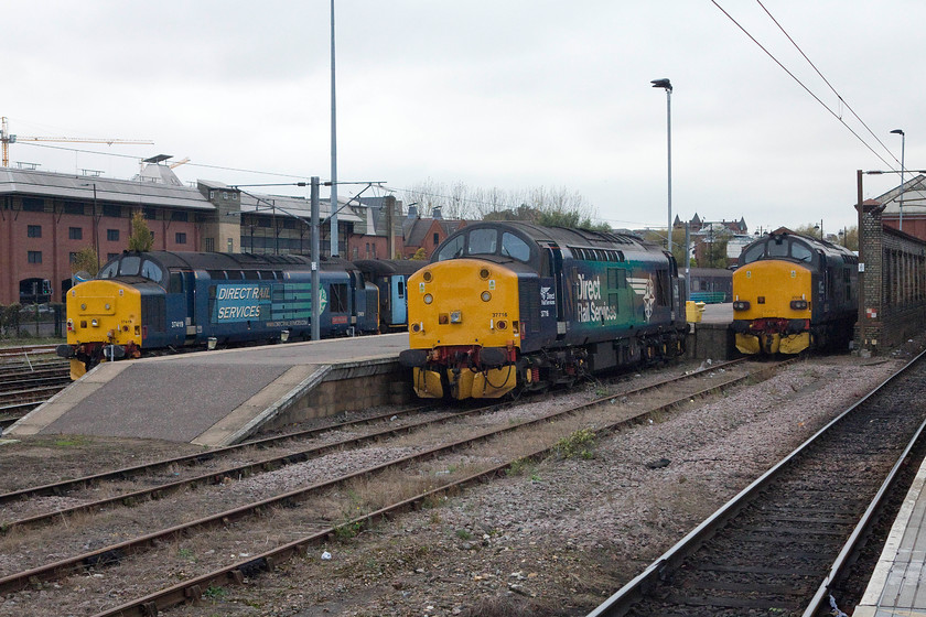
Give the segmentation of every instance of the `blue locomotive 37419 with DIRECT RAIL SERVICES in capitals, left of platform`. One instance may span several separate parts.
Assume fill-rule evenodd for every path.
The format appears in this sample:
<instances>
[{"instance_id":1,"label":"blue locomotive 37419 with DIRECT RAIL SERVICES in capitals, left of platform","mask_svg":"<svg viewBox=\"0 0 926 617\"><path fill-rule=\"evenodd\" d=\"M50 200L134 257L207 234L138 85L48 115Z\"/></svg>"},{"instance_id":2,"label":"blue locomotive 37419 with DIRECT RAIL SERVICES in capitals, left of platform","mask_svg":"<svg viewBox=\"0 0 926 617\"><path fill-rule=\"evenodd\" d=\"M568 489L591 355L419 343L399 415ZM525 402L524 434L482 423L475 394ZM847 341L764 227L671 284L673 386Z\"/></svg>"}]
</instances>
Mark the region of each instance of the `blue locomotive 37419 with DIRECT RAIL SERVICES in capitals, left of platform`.
<instances>
[{"instance_id":1,"label":"blue locomotive 37419 with DIRECT RAIL SERVICES in capitals, left of platform","mask_svg":"<svg viewBox=\"0 0 926 617\"><path fill-rule=\"evenodd\" d=\"M380 324L377 288L403 291L405 278L403 270L375 274L372 267L322 259L321 336L405 327L405 306ZM104 359L142 351L308 339L311 280L311 261L302 256L125 252L67 292L67 345L57 354L71 359L77 379Z\"/></svg>"}]
</instances>

